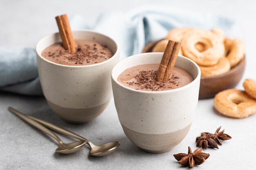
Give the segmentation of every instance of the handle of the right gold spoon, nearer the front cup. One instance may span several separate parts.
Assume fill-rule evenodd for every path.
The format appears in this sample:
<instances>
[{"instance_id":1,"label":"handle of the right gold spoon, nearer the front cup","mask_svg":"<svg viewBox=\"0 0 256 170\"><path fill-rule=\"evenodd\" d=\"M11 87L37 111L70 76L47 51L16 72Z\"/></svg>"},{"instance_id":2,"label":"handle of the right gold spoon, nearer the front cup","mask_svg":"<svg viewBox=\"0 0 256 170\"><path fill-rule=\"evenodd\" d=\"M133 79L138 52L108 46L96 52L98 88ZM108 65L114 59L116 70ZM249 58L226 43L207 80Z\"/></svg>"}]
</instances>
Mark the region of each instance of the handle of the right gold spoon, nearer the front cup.
<instances>
[{"instance_id":1,"label":"handle of the right gold spoon, nearer the front cup","mask_svg":"<svg viewBox=\"0 0 256 170\"><path fill-rule=\"evenodd\" d=\"M62 134L64 134L64 135L67 135L67 136L70 136L70 137L74 137L74 138L76 138L76 139L80 139L80 140L84 140L84 141L89 142L89 141L88 141L87 139L85 139L84 137L81 137L80 135L77 135L76 133L71 132L71 131L69 131L69 130L67 130L67 129L65 129L65 128L61 128L60 126L51 124L51 123L49 123L49 122L47 122L47 121L44 121L44 120L42 120L42 119L38 119L38 118L33 117L33 116L31 116L31 115L26 115L26 116L29 117L30 119L33 119L33 120L39 122L40 124L44 125L45 127L56 131L56 132L62 133Z\"/></svg>"}]
</instances>

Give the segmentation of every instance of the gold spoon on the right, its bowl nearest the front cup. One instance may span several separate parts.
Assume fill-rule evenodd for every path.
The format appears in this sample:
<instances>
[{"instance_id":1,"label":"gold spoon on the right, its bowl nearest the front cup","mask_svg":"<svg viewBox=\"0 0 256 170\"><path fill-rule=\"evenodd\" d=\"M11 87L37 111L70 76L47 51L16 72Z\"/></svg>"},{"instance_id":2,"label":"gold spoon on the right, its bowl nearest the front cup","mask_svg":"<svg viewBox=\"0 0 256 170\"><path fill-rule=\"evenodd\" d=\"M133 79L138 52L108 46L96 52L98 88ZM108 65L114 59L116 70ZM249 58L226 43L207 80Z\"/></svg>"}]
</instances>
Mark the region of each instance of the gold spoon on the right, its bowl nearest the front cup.
<instances>
[{"instance_id":1,"label":"gold spoon on the right, its bowl nearest the front cup","mask_svg":"<svg viewBox=\"0 0 256 170\"><path fill-rule=\"evenodd\" d=\"M79 140L85 140L87 141L87 144L90 146L90 152L89 155L95 156L95 157L102 157L102 156L106 156L111 154L112 152L114 152L120 145L119 141L112 141L112 142L108 142L106 144L101 144L101 145L94 145L92 144L92 142L90 142L88 139L85 139L84 137L81 137L80 135L77 135L74 132L71 132L69 130L66 130L64 128L61 128L59 126L56 126L54 124L51 124L47 121L38 119L36 117L30 116L30 115L26 115L27 117L39 122L40 124L44 125L45 127L52 129L56 132L62 133L64 135L70 136L70 137L74 137L76 139Z\"/></svg>"}]
</instances>

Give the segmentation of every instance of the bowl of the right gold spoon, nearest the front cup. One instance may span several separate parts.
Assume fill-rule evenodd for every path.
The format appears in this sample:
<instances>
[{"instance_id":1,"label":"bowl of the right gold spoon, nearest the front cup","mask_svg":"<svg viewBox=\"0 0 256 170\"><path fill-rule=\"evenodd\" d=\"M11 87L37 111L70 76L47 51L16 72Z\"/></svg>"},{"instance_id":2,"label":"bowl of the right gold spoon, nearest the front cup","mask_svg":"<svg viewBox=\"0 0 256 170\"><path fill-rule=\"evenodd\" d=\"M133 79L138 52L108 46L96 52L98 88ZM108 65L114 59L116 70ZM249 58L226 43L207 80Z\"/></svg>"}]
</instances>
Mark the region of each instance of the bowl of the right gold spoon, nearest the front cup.
<instances>
[{"instance_id":1,"label":"bowl of the right gold spoon, nearest the front cup","mask_svg":"<svg viewBox=\"0 0 256 170\"><path fill-rule=\"evenodd\" d=\"M119 141L112 141L101 145L90 144L91 150L89 154L95 157L103 157L114 152L119 147L119 145Z\"/></svg>"}]
</instances>

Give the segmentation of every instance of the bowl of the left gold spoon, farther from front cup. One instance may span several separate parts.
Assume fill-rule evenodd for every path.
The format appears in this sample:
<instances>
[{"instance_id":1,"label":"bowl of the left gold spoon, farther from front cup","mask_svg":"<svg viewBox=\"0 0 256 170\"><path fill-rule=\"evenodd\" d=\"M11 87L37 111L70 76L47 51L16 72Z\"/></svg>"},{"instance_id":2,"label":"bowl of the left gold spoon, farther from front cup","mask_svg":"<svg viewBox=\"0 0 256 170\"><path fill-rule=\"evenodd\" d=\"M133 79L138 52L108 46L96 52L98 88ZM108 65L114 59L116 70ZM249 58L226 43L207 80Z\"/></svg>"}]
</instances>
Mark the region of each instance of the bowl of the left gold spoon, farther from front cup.
<instances>
[{"instance_id":1,"label":"bowl of the left gold spoon, farther from front cup","mask_svg":"<svg viewBox=\"0 0 256 170\"><path fill-rule=\"evenodd\" d=\"M86 141L74 141L69 144L62 143L55 152L61 153L61 154L70 154L77 152L80 150L84 145L86 144Z\"/></svg>"}]
</instances>

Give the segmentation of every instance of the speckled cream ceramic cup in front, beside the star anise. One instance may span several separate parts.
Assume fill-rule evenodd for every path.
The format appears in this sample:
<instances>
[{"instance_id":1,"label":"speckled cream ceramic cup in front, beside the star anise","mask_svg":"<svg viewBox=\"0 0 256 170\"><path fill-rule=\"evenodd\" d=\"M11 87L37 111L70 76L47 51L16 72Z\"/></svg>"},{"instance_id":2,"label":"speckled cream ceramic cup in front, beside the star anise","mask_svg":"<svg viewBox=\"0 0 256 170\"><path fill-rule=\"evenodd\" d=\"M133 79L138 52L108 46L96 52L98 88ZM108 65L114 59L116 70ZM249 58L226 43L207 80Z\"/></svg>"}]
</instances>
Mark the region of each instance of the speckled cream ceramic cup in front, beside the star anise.
<instances>
[{"instance_id":1,"label":"speckled cream ceramic cup in front, beside the star anise","mask_svg":"<svg viewBox=\"0 0 256 170\"><path fill-rule=\"evenodd\" d=\"M198 104L200 69L192 60L178 56L175 66L194 78L190 84L168 91L140 91L117 81L127 68L159 64L163 53L141 53L119 62L112 70L115 107L124 133L146 152L162 153L179 144L189 132Z\"/></svg>"}]
</instances>

